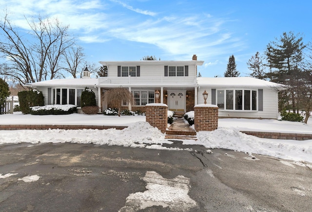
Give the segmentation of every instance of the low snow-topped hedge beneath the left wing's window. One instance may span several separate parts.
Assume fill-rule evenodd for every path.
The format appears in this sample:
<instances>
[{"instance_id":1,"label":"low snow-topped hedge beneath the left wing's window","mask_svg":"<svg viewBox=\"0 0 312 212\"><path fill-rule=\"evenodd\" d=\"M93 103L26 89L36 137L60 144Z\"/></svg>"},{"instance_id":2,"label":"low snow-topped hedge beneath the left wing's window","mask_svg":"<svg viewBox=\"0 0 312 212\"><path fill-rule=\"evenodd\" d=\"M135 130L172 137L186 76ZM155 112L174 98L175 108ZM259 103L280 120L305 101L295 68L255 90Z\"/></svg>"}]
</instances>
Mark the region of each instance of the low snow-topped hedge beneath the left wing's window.
<instances>
[{"instance_id":1,"label":"low snow-topped hedge beneath the left wing's window","mask_svg":"<svg viewBox=\"0 0 312 212\"><path fill-rule=\"evenodd\" d=\"M68 115L76 113L77 107L72 104L66 105L45 105L31 107L31 115Z\"/></svg>"}]
</instances>

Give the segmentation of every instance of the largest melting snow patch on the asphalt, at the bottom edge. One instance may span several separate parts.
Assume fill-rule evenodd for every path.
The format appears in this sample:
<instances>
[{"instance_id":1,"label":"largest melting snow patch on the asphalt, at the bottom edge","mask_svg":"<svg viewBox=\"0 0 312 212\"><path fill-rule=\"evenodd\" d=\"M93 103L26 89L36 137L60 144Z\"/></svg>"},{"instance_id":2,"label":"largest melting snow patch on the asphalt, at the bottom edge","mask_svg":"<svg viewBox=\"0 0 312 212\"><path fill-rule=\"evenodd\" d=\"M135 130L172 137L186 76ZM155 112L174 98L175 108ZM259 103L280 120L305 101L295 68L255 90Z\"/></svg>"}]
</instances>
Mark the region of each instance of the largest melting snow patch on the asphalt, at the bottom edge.
<instances>
[{"instance_id":1,"label":"largest melting snow patch on the asphalt, at the bottom edge","mask_svg":"<svg viewBox=\"0 0 312 212\"><path fill-rule=\"evenodd\" d=\"M196 202L188 195L189 178L178 175L173 179L166 179L152 171L146 172L142 179L147 183L147 191L131 193L126 199L126 206L119 212L138 211L152 206L187 212L196 206Z\"/></svg>"}]
</instances>

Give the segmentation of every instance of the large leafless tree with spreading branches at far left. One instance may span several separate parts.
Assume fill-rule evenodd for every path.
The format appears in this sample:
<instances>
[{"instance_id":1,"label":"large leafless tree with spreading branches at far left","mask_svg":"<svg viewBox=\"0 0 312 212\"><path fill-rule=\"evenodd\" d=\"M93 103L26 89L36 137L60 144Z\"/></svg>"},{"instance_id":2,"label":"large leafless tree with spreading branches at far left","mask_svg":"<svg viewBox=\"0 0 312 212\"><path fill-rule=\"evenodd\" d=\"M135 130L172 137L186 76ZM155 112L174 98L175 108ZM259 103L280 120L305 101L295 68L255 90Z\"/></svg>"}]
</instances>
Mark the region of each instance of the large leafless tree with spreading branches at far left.
<instances>
[{"instance_id":1,"label":"large leafless tree with spreading branches at far left","mask_svg":"<svg viewBox=\"0 0 312 212\"><path fill-rule=\"evenodd\" d=\"M27 20L27 19L26 19ZM4 73L21 84L63 77L60 69L65 50L75 43L68 35L68 26L58 19L28 21L30 31L14 27L6 15L0 21L0 53L9 69ZM23 32L23 33L20 33Z\"/></svg>"}]
</instances>

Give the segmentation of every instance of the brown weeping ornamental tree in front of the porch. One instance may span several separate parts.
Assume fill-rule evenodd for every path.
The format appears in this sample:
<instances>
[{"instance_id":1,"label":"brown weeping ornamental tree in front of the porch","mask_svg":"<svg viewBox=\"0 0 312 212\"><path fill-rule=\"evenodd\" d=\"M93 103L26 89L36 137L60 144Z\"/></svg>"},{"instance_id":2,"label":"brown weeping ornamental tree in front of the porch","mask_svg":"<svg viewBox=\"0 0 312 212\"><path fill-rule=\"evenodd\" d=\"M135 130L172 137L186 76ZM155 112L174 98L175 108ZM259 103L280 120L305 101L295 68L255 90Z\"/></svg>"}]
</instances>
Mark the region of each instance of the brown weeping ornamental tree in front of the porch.
<instances>
[{"instance_id":1,"label":"brown weeping ornamental tree in front of the porch","mask_svg":"<svg viewBox=\"0 0 312 212\"><path fill-rule=\"evenodd\" d=\"M111 107L118 108L118 116L120 116L122 103L134 103L133 95L127 88L118 87L110 89L104 93L104 102Z\"/></svg>"}]
</instances>

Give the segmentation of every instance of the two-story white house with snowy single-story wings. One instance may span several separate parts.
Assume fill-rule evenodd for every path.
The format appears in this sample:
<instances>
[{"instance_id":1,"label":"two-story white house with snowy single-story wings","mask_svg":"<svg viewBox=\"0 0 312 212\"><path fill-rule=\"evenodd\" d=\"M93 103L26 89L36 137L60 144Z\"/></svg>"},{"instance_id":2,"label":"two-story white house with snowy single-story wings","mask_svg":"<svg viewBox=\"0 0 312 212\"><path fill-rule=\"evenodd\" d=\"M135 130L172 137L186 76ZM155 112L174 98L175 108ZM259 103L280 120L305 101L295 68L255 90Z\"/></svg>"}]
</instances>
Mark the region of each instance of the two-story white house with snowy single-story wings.
<instances>
[{"instance_id":1,"label":"two-story white house with snowy single-story wings","mask_svg":"<svg viewBox=\"0 0 312 212\"><path fill-rule=\"evenodd\" d=\"M90 78L83 71L82 78L53 79L30 83L42 91L45 104L74 104L80 107L80 95L85 87L96 93L101 111L107 108L103 93L119 86L132 92L135 105L129 110L144 111L147 103L168 105L175 112L194 110L203 104L202 93L208 93L207 104L219 107L220 117L274 118L278 117L278 91L282 85L251 77L196 77L197 66L204 61L194 55L188 61L101 61L108 68L108 77Z\"/></svg>"}]
</instances>

